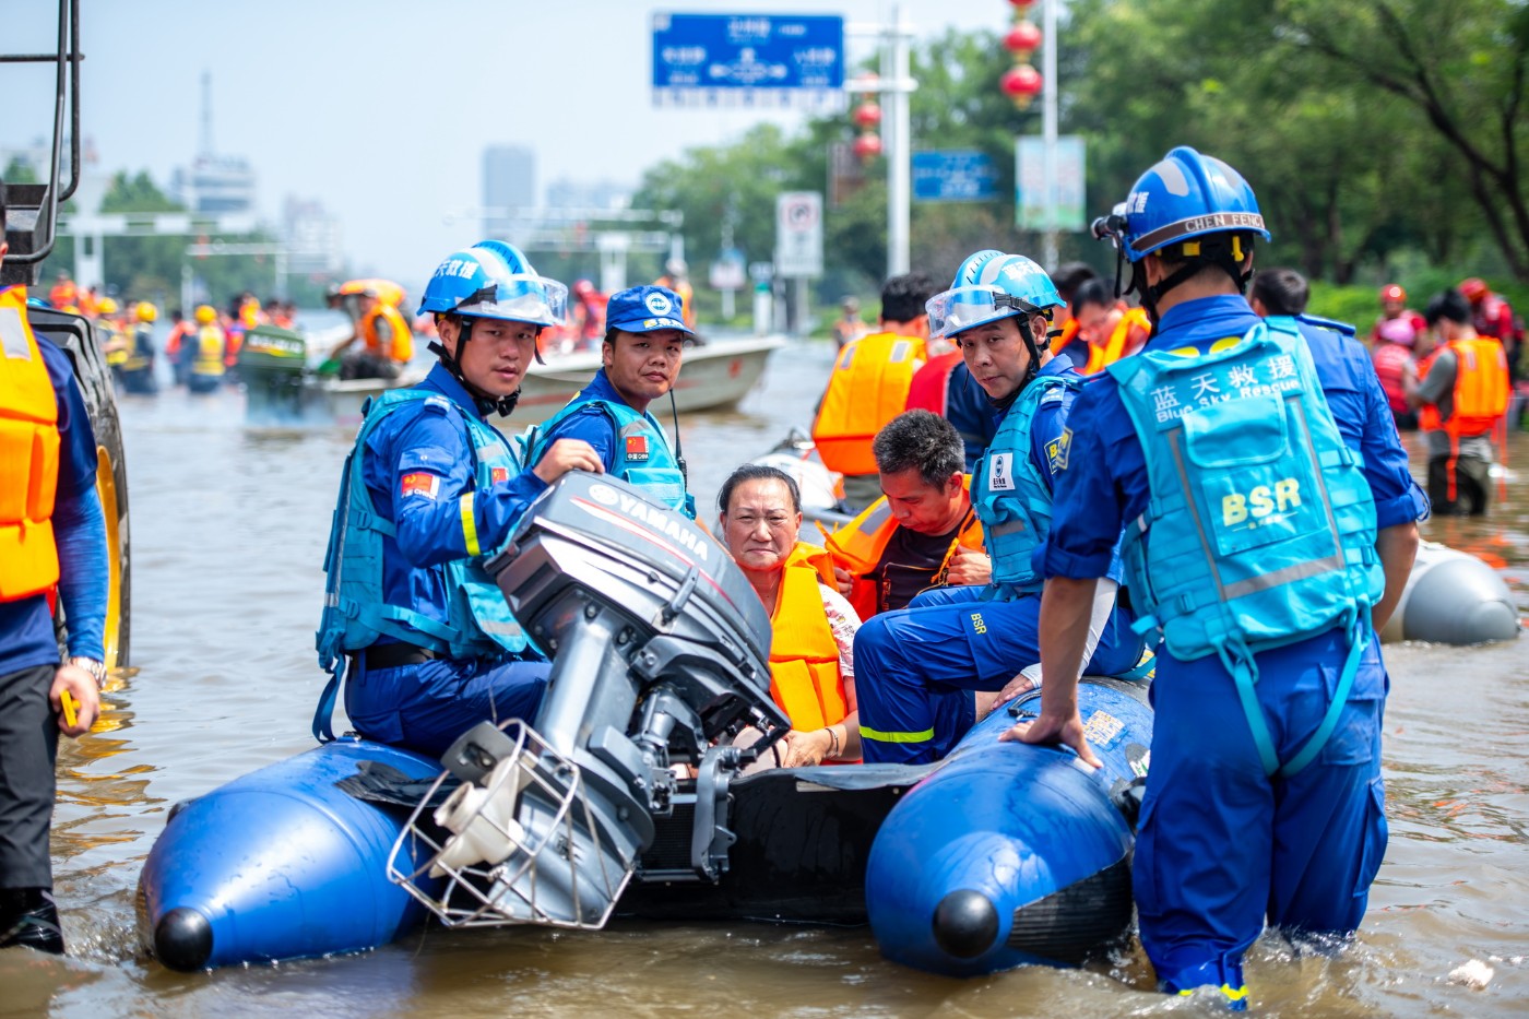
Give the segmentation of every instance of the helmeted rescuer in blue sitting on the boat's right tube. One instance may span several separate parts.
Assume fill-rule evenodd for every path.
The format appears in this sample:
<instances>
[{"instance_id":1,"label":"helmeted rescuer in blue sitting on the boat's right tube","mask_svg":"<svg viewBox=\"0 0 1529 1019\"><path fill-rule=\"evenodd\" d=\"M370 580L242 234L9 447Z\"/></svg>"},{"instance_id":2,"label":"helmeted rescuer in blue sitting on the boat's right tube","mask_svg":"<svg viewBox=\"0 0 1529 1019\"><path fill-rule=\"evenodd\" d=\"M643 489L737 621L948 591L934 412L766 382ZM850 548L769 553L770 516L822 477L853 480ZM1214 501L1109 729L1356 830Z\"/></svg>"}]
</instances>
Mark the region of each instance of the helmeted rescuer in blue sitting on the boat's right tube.
<instances>
[{"instance_id":1,"label":"helmeted rescuer in blue sitting on the boat's right tube","mask_svg":"<svg viewBox=\"0 0 1529 1019\"><path fill-rule=\"evenodd\" d=\"M951 289L928 301L930 335L960 347L1003 416L971 482L992 583L920 594L855 635L867 762L936 760L971 727L972 692L1003 699L1038 681L1040 575L1032 555L1050 528L1052 483L1069 461L1064 425L1079 387L1070 361L1047 350L1050 314L1061 304L1038 265L1000 251L966 259ZM1138 666L1142 641L1116 609L1113 584L1084 612L1084 623L1092 623L1096 641L1089 672L1124 675Z\"/></svg>"}]
</instances>

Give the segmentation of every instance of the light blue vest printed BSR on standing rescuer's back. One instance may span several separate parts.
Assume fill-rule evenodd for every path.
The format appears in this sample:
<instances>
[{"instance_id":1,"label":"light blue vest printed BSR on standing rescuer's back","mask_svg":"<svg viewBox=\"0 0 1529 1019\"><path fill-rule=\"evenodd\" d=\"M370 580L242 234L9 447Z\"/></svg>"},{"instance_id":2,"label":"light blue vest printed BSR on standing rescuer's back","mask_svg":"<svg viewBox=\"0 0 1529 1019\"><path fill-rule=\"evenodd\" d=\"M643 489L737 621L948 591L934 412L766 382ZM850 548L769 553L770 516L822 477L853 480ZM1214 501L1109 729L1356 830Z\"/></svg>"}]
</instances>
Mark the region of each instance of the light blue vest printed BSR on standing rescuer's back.
<instances>
[{"instance_id":1,"label":"light blue vest printed BSR on standing rescuer's back","mask_svg":"<svg viewBox=\"0 0 1529 1019\"><path fill-rule=\"evenodd\" d=\"M1147 513L1124 560L1138 632L1161 626L1180 661L1220 656L1269 774L1327 742L1385 589L1375 499L1338 431L1290 318L1208 353L1142 352L1109 369L1147 459ZM1254 655L1344 627L1350 649L1316 733L1286 763L1254 695Z\"/></svg>"}]
</instances>

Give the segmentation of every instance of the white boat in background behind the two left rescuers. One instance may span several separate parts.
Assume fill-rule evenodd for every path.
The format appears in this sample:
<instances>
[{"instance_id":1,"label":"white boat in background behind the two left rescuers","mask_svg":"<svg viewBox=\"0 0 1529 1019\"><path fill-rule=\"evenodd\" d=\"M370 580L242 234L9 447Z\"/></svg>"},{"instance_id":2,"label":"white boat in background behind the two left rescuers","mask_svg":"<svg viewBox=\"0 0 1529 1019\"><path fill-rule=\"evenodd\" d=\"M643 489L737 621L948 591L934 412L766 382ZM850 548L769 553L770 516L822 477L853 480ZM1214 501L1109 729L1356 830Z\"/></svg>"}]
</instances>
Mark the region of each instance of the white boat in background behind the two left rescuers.
<instances>
[{"instance_id":1,"label":"white boat in background behind the two left rescuers","mask_svg":"<svg viewBox=\"0 0 1529 1019\"><path fill-rule=\"evenodd\" d=\"M708 340L685 350L674 402L682 412L731 407L764 375L764 364L774 350L786 346L784 337L746 337L739 340ZM520 402L508 419L494 424L514 430L541 424L555 415L579 389L589 384L599 367L599 350L560 355L546 364L532 364L521 386ZM283 425L323 422L352 425L361 421L361 407L372 396L413 386L428 372L428 364L416 363L398 379L321 378L309 372L278 379L278 384L254 384L246 378L248 412L252 424ZM665 401L667 402L667 401Z\"/></svg>"}]
</instances>

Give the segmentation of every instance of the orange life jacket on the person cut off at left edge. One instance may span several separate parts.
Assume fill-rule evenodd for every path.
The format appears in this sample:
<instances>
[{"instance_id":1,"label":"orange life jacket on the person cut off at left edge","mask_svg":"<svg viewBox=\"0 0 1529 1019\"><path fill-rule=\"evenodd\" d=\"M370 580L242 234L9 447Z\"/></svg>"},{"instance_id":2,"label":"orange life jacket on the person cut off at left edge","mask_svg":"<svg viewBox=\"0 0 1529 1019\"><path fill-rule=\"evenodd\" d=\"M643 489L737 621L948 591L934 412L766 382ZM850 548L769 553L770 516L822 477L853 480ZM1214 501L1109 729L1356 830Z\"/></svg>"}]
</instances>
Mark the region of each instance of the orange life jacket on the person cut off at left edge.
<instances>
[{"instance_id":1,"label":"orange life jacket on the person cut off at left edge","mask_svg":"<svg viewBox=\"0 0 1529 1019\"><path fill-rule=\"evenodd\" d=\"M26 288L0 289L0 601L58 583L58 396L26 320Z\"/></svg>"}]
</instances>

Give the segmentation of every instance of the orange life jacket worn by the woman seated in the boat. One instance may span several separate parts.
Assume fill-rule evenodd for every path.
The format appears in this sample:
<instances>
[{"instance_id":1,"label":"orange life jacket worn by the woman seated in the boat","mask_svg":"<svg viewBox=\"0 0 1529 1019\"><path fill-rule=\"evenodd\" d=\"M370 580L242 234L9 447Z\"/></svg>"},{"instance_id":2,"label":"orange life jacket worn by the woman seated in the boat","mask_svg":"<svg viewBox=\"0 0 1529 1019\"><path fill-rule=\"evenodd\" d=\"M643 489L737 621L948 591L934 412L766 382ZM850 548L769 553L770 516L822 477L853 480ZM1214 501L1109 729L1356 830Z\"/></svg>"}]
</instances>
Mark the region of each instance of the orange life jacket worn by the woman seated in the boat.
<instances>
[{"instance_id":1,"label":"orange life jacket worn by the woman seated in the boat","mask_svg":"<svg viewBox=\"0 0 1529 1019\"><path fill-rule=\"evenodd\" d=\"M815 730L849 716L839 646L823 612L818 572L809 566L781 571L771 617L769 693L797 730Z\"/></svg>"}]
</instances>

